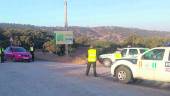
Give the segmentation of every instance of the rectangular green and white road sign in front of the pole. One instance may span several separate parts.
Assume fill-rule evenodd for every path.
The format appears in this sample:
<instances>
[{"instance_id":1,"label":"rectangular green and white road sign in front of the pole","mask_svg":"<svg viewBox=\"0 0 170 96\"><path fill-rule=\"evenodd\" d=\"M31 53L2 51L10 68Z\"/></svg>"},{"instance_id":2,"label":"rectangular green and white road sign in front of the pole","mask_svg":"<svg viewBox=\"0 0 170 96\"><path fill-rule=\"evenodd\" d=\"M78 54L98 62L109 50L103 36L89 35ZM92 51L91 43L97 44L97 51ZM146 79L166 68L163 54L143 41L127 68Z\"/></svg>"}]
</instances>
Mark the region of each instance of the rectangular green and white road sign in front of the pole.
<instances>
[{"instance_id":1,"label":"rectangular green and white road sign in front of the pole","mask_svg":"<svg viewBox=\"0 0 170 96\"><path fill-rule=\"evenodd\" d=\"M72 31L54 31L56 44L73 44Z\"/></svg>"}]
</instances>

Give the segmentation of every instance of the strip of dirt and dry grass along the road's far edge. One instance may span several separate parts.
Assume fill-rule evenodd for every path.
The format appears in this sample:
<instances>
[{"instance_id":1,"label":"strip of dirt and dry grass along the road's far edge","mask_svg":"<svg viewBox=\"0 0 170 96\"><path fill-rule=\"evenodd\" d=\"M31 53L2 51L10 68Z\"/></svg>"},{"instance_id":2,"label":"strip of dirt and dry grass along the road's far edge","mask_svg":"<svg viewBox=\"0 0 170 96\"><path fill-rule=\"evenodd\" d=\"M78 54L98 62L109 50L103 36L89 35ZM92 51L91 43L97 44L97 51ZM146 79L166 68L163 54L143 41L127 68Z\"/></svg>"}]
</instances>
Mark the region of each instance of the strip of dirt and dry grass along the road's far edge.
<instances>
[{"instance_id":1,"label":"strip of dirt and dry grass along the road's far edge","mask_svg":"<svg viewBox=\"0 0 170 96\"><path fill-rule=\"evenodd\" d=\"M55 61L61 63L72 63L72 64L86 64L86 47L78 48L74 53L70 54L70 56L57 56L53 53L37 51L35 52L35 57L38 60L46 60L46 61ZM97 62L97 65L101 65Z\"/></svg>"}]
</instances>

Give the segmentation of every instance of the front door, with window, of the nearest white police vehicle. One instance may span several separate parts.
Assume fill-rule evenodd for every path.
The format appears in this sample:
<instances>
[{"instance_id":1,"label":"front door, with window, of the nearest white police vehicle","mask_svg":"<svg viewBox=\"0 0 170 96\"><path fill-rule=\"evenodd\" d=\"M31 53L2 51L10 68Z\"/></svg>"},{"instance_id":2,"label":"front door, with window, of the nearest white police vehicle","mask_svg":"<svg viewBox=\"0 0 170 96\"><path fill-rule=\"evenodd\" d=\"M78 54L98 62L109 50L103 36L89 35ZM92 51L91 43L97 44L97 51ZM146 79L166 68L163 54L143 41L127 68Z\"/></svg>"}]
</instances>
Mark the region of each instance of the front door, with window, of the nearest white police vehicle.
<instances>
[{"instance_id":1,"label":"front door, with window, of the nearest white police vehicle","mask_svg":"<svg viewBox=\"0 0 170 96\"><path fill-rule=\"evenodd\" d=\"M155 70L157 65L162 63L164 49L153 49L146 52L140 61L141 78L155 80Z\"/></svg>"}]
</instances>

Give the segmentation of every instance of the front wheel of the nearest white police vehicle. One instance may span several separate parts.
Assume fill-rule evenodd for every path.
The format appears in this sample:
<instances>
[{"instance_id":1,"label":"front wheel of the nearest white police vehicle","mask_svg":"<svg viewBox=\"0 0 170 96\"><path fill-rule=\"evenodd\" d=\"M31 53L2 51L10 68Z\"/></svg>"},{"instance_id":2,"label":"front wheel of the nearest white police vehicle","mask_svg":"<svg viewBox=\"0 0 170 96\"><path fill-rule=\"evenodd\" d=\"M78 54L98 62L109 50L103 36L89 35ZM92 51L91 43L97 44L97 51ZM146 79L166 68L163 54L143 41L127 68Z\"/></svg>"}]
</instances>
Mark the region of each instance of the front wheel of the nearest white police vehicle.
<instances>
[{"instance_id":1,"label":"front wheel of the nearest white police vehicle","mask_svg":"<svg viewBox=\"0 0 170 96\"><path fill-rule=\"evenodd\" d=\"M125 66L120 66L116 69L116 78L121 83L131 83L133 81L132 72Z\"/></svg>"}]
</instances>

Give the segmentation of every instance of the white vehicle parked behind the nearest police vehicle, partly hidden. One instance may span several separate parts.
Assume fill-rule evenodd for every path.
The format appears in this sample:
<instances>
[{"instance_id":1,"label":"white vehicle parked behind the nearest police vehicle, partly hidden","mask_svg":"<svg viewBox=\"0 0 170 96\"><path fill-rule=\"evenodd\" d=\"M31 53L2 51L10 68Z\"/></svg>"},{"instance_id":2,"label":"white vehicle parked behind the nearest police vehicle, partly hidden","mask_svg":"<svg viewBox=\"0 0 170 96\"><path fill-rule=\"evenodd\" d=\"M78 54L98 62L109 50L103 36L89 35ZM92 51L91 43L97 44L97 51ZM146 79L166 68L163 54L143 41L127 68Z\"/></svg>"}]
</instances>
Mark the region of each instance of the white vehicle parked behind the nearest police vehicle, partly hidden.
<instances>
[{"instance_id":1,"label":"white vehicle parked behind the nearest police vehicle, partly hidden","mask_svg":"<svg viewBox=\"0 0 170 96\"><path fill-rule=\"evenodd\" d=\"M122 58L136 58L138 55L142 54L148 50L148 48L123 48L120 52L122 54ZM110 54L102 54L99 56L99 61L106 67L110 67L112 63L116 61L114 57L114 53Z\"/></svg>"}]
</instances>

